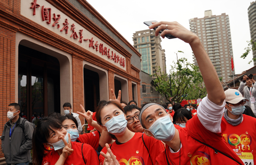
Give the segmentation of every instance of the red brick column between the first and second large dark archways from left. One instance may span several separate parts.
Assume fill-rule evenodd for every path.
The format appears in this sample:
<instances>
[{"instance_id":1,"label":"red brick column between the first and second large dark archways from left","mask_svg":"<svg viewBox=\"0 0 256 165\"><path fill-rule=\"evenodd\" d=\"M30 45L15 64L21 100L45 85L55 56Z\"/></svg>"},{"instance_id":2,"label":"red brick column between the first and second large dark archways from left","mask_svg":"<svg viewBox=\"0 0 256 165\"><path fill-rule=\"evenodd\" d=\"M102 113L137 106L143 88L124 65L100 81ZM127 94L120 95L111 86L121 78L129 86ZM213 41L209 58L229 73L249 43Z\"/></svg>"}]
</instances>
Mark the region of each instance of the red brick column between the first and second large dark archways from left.
<instances>
[{"instance_id":1,"label":"red brick column between the first and second large dark archways from left","mask_svg":"<svg viewBox=\"0 0 256 165\"><path fill-rule=\"evenodd\" d=\"M84 71L83 58L72 54L73 112L81 112L80 104L84 106ZM83 125L84 117L79 115Z\"/></svg>"}]
</instances>

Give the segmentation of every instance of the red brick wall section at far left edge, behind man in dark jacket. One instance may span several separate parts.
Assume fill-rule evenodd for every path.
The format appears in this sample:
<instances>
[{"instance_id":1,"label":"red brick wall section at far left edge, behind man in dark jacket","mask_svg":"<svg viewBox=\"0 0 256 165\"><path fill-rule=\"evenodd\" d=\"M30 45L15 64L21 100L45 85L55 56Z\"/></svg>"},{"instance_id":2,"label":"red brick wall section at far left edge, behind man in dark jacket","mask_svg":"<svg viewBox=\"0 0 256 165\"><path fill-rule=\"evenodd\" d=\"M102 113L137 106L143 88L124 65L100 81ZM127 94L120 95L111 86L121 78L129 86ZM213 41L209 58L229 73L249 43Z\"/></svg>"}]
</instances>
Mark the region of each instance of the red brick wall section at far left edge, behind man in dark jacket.
<instances>
[{"instance_id":1,"label":"red brick wall section at far left edge, behind man in dark jacket","mask_svg":"<svg viewBox=\"0 0 256 165\"><path fill-rule=\"evenodd\" d=\"M15 33L0 26L0 136L8 121L6 107L15 102ZM3 157L0 154L0 157Z\"/></svg>"}]
</instances>

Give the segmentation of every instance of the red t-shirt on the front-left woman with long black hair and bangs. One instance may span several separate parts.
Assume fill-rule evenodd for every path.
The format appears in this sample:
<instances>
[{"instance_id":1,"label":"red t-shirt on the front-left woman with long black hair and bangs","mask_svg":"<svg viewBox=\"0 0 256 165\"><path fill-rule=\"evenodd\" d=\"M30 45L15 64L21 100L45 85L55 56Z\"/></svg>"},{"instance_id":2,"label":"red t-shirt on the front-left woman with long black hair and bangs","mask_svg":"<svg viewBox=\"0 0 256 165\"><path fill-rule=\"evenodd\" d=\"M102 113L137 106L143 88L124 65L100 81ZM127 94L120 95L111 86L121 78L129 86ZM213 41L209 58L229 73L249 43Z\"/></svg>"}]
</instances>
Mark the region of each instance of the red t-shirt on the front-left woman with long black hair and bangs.
<instances>
[{"instance_id":1,"label":"red t-shirt on the front-left woman with long black hair and bangs","mask_svg":"<svg viewBox=\"0 0 256 165\"><path fill-rule=\"evenodd\" d=\"M67 157L64 165L84 165L84 160L86 162L86 165L98 165L98 155L96 151L88 144L83 145L83 155L84 160L82 156L82 144L83 143L77 143L77 142L71 142L72 149L74 149L74 152L70 156ZM55 165L56 162L59 159L59 154L57 151L49 151L44 157L42 165Z\"/></svg>"}]
</instances>

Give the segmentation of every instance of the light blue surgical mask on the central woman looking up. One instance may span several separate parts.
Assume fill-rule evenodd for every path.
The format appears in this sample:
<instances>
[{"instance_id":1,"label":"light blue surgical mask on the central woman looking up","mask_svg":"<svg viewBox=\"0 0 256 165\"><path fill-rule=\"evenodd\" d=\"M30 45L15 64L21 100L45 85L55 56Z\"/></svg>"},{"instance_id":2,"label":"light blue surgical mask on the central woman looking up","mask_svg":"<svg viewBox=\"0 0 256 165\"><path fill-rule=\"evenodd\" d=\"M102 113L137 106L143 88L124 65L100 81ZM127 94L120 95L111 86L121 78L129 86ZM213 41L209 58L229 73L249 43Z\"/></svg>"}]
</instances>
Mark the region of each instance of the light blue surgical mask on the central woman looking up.
<instances>
[{"instance_id":1,"label":"light blue surgical mask on the central woman looking up","mask_svg":"<svg viewBox=\"0 0 256 165\"><path fill-rule=\"evenodd\" d=\"M108 122L105 123L105 125L102 125L107 127L107 131L111 133L112 135L122 135L127 126L127 120L124 117L124 114L112 117Z\"/></svg>"}]
</instances>

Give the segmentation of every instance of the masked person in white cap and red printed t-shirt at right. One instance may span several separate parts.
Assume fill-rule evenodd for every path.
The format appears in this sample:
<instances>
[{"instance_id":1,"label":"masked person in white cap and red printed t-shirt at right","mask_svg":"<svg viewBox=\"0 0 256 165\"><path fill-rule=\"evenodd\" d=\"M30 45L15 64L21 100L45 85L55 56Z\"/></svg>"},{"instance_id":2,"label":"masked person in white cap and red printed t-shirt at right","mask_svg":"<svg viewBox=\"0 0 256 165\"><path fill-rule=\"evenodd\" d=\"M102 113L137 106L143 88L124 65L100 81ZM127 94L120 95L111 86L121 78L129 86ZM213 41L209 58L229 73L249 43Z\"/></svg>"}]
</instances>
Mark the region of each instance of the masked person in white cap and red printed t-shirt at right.
<instances>
[{"instance_id":1,"label":"masked person in white cap and red printed t-shirt at right","mask_svg":"<svg viewBox=\"0 0 256 165\"><path fill-rule=\"evenodd\" d=\"M227 111L222 120L227 129L223 138L245 165L256 165L256 119L243 114L244 105L249 100L236 89L226 90L225 95Z\"/></svg>"}]
</instances>

